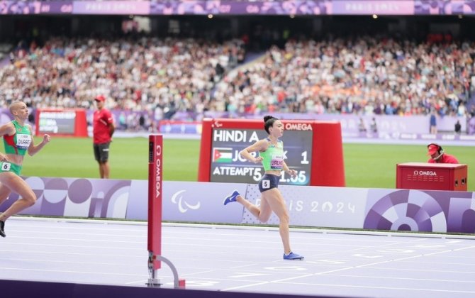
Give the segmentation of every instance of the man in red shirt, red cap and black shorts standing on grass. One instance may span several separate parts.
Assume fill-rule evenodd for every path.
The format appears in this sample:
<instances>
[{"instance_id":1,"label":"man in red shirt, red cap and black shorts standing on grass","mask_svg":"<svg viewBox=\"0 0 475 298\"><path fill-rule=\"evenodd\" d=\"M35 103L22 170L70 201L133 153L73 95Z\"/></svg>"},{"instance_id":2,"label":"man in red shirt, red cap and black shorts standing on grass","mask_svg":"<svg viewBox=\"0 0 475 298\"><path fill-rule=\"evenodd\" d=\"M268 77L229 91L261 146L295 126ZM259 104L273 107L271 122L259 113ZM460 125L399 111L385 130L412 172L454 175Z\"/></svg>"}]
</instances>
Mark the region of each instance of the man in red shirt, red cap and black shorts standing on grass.
<instances>
[{"instance_id":1,"label":"man in red shirt, red cap and black shorts standing on grass","mask_svg":"<svg viewBox=\"0 0 475 298\"><path fill-rule=\"evenodd\" d=\"M97 110L94 111L92 126L94 158L99 162L99 174L101 178L108 179L109 145L111 144L112 135L116 127L113 123L111 111L104 108L106 98L103 95L99 95L94 101L97 105Z\"/></svg>"}]
</instances>

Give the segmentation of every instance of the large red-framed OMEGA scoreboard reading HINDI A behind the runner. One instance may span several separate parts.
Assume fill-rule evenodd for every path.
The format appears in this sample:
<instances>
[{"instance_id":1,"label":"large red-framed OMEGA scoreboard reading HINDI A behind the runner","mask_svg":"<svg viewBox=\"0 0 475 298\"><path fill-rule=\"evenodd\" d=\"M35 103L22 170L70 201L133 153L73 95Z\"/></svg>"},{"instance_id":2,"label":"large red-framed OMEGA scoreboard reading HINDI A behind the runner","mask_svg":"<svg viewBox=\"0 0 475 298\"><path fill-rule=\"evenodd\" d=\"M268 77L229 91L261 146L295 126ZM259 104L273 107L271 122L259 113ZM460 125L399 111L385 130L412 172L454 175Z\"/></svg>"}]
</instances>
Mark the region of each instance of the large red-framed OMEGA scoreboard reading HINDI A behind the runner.
<instances>
[{"instance_id":1,"label":"large red-framed OMEGA scoreboard reading HINDI A behind the runner","mask_svg":"<svg viewBox=\"0 0 475 298\"><path fill-rule=\"evenodd\" d=\"M280 140L284 143L284 160L297 175L291 177L282 171L279 184L345 186L340 123L294 120L282 120L282 123L284 135ZM256 184L264 175L264 167L245 160L239 153L267 136L263 119L204 119L199 181ZM259 153L251 154L257 157ZM321 159L323 155L325 158Z\"/></svg>"}]
</instances>

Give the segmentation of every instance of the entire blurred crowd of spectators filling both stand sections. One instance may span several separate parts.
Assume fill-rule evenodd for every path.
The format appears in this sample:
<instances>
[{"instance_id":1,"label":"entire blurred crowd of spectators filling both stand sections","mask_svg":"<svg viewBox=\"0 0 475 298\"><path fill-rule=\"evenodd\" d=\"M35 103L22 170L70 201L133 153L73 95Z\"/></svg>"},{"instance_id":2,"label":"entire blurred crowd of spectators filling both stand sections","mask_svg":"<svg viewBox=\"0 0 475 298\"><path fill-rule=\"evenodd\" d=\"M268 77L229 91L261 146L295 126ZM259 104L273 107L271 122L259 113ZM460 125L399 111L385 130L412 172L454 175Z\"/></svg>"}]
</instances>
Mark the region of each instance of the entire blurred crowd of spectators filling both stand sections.
<instances>
[{"instance_id":1,"label":"entire blurred crowd of spectators filling both stand sections","mask_svg":"<svg viewBox=\"0 0 475 298\"><path fill-rule=\"evenodd\" d=\"M475 44L386 37L289 39L246 65L245 41L50 38L19 46L0 69L0 104L244 113L464 116Z\"/></svg>"}]
</instances>

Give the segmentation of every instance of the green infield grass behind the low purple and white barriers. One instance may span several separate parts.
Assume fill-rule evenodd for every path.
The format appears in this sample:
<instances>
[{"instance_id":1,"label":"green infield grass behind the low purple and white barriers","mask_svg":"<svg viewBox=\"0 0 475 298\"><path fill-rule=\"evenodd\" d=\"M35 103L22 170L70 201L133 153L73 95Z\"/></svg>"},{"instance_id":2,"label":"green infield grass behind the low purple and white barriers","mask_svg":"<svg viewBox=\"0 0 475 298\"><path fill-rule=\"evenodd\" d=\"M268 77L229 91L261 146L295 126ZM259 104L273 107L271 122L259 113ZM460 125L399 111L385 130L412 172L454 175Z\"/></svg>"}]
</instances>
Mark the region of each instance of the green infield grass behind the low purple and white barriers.
<instances>
[{"instance_id":1,"label":"green infield grass behind the low purple and white barriers","mask_svg":"<svg viewBox=\"0 0 475 298\"><path fill-rule=\"evenodd\" d=\"M38 143L40 139L36 138ZM443 145L469 167L468 190L475 191L475 148ZM196 181L200 140L164 139L163 179ZM426 162L425 145L344 144L347 187L395 188L396 164ZM111 179L147 180L148 139L115 138L109 157ZM291 165L289 165L291 166ZM23 162L24 176L99 178L91 138L52 138Z\"/></svg>"}]
</instances>

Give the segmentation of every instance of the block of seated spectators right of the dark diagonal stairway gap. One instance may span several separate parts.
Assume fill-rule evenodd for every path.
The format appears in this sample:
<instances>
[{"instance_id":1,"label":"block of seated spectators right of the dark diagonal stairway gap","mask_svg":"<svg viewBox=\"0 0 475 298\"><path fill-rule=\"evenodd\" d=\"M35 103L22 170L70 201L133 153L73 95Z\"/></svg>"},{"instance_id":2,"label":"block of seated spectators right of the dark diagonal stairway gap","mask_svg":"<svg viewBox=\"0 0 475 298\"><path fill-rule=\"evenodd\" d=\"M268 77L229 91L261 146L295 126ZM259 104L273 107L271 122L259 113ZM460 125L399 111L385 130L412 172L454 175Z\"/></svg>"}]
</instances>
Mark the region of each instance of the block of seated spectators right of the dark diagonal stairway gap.
<instances>
[{"instance_id":1,"label":"block of seated spectators right of the dark diagonal stairway gap","mask_svg":"<svg viewBox=\"0 0 475 298\"><path fill-rule=\"evenodd\" d=\"M218 85L230 111L466 114L475 86L474 43L365 37L289 40Z\"/></svg>"}]
</instances>

